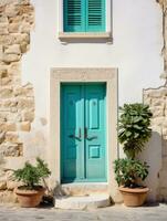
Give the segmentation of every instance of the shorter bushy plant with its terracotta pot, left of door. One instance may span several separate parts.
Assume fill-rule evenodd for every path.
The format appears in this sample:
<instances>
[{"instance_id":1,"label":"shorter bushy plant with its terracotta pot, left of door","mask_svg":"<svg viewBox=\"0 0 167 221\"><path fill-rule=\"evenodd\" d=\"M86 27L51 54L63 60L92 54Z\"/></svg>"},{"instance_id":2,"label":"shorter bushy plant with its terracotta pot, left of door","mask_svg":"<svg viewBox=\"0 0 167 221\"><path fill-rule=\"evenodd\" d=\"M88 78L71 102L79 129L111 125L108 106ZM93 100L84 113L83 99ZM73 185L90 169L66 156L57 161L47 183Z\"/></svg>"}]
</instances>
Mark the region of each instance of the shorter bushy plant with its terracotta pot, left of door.
<instances>
[{"instance_id":1,"label":"shorter bushy plant with its terracotta pot, left of door","mask_svg":"<svg viewBox=\"0 0 167 221\"><path fill-rule=\"evenodd\" d=\"M27 161L24 167L14 170L13 175L15 180L23 183L15 189L20 206L25 208L39 206L45 191L41 182L51 175L44 160L36 158L36 166Z\"/></svg>"}]
</instances>

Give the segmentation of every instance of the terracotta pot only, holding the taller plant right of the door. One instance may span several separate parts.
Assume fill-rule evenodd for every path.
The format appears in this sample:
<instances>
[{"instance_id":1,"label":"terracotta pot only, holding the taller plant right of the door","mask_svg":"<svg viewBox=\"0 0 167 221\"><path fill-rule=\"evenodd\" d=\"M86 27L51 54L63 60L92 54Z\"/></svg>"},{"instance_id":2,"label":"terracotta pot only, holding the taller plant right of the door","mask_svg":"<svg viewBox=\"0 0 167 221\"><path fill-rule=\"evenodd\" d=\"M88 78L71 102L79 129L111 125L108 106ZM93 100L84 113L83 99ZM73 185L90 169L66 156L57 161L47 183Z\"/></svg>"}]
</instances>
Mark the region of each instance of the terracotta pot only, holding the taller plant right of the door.
<instances>
[{"instance_id":1,"label":"terracotta pot only, holding the taller plant right of the door","mask_svg":"<svg viewBox=\"0 0 167 221\"><path fill-rule=\"evenodd\" d=\"M127 207L139 207L144 204L149 191L148 188L124 188L119 187L122 192L124 204Z\"/></svg>"}]
</instances>

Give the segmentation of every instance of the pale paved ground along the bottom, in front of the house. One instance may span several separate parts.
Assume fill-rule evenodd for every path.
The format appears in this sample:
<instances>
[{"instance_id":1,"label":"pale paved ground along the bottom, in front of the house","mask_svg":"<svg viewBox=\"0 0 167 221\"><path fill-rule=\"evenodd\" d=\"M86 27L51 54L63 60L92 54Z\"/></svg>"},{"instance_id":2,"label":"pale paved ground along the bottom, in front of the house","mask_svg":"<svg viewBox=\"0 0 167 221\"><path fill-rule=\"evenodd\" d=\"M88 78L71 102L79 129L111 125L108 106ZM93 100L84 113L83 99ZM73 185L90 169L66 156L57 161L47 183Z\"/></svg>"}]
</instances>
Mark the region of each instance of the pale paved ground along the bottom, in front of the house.
<instances>
[{"instance_id":1,"label":"pale paved ground along the bottom, in front of the house","mask_svg":"<svg viewBox=\"0 0 167 221\"><path fill-rule=\"evenodd\" d=\"M21 209L0 206L0 221L167 221L167 204L142 208L114 206L93 211L66 211L53 208Z\"/></svg>"}]
</instances>

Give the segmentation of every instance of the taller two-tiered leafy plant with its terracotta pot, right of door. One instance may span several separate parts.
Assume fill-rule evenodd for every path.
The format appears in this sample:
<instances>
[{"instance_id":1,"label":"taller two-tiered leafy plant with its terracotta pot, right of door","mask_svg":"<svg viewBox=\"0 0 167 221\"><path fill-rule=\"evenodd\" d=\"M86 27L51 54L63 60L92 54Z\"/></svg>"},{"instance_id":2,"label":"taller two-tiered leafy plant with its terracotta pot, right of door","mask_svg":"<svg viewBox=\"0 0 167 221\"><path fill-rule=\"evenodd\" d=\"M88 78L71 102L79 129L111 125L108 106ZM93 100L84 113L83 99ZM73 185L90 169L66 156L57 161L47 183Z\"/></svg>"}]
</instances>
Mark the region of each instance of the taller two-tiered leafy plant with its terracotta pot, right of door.
<instances>
[{"instance_id":1,"label":"taller two-tiered leafy plant with its terracotta pot, right of door","mask_svg":"<svg viewBox=\"0 0 167 221\"><path fill-rule=\"evenodd\" d=\"M125 104L121 107L118 120L118 141L123 145L126 158L115 164L116 181L128 207L142 206L149 189L140 185L148 176L148 165L137 159L138 152L152 136L152 112L145 104Z\"/></svg>"}]
</instances>

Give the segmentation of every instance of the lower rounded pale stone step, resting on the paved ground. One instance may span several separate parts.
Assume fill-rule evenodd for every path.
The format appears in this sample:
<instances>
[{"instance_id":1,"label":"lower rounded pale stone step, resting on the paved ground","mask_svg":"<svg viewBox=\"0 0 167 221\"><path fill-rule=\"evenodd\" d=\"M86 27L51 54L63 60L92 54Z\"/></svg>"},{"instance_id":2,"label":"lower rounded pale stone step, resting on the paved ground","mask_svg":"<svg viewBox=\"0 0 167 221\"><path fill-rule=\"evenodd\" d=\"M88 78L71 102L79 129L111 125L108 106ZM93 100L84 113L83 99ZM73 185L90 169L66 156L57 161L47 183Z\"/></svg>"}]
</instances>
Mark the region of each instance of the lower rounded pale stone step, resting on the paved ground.
<instances>
[{"instance_id":1,"label":"lower rounded pale stone step, resting on the paved ground","mask_svg":"<svg viewBox=\"0 0 167 221\"><path fill-rule=\"evenodd\" d=\"M111 204L108 194L93 194L85 197L56 197L55 208L64 210L86 210L105 208Z\"/></svg>"}]
</instances>

